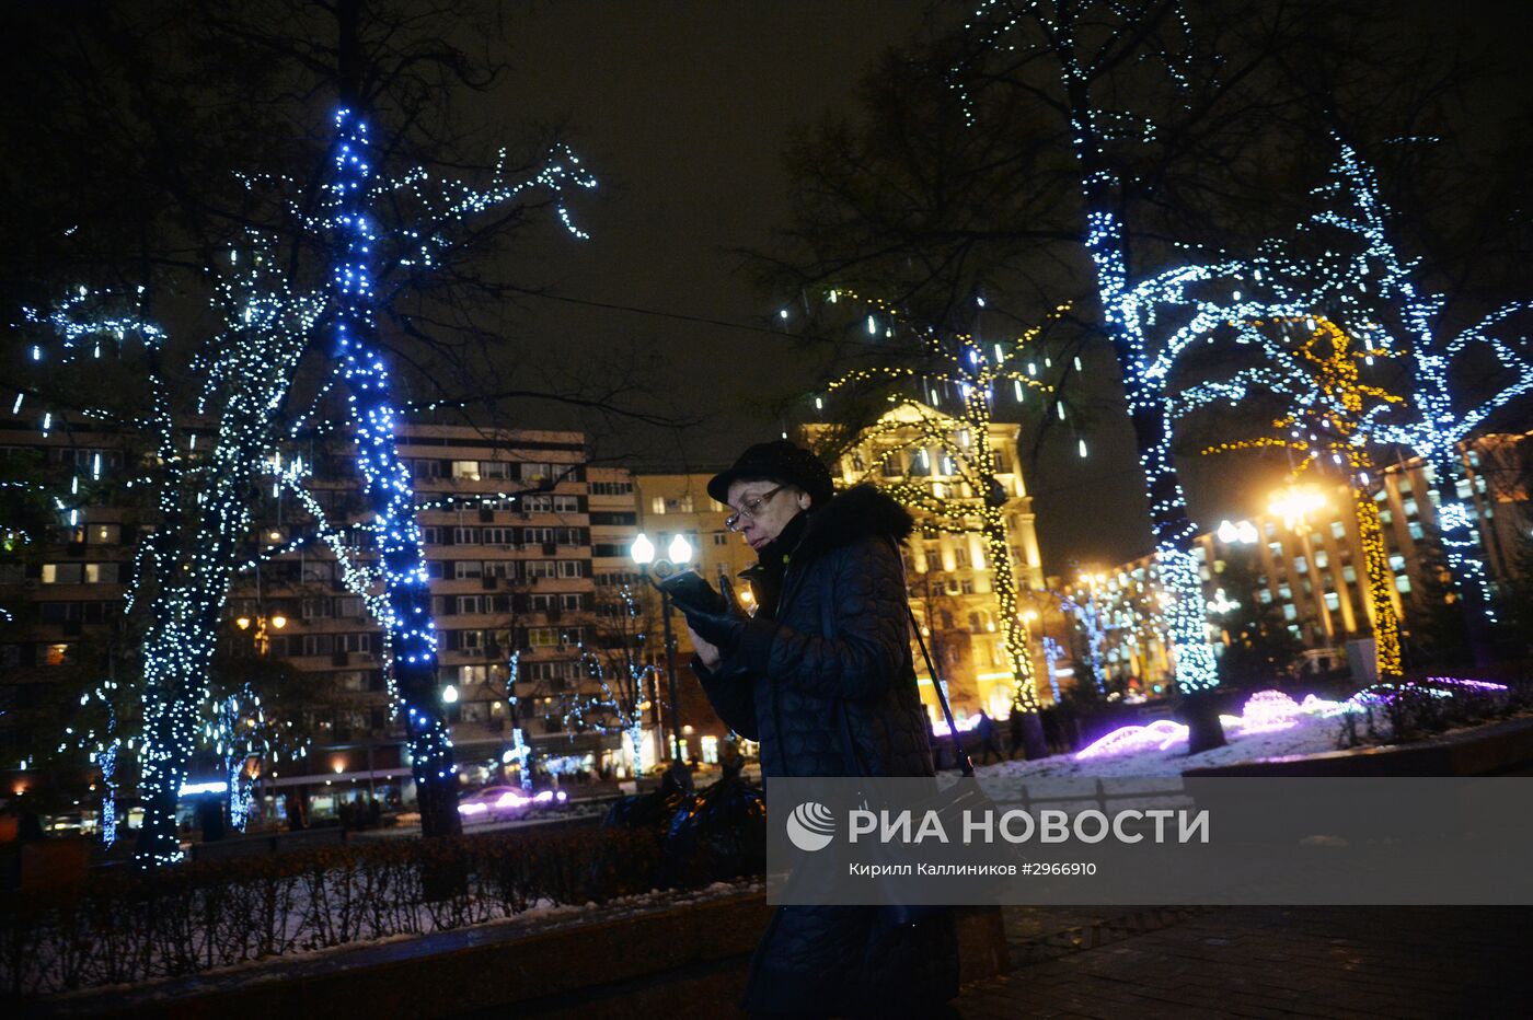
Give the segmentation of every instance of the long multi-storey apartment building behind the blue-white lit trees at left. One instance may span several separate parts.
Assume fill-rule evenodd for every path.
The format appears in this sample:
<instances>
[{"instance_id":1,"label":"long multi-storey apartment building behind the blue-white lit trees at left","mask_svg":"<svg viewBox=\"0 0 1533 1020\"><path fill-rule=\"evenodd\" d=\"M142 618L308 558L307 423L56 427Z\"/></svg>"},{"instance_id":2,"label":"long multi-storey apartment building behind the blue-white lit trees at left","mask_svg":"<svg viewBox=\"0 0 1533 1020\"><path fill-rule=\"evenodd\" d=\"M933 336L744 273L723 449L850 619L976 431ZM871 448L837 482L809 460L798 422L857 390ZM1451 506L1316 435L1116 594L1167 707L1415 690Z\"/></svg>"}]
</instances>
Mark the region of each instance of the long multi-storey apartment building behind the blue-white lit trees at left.
<instances>
[{"instance_id":1,"label":"long multi-storey apartment building behind the blue-white lit trees at left","mask_svg":"<svg viewBox=\"0 0 1533 1020\"><path fill-rule=\"evenodd\" d=\"M123 470L143 456L133 436L78 427L44 435L20 420L0 427L0 456L12 467L35 466L55 484L71 472ZM593 518L578 432L417 424L402 429L399 452L422 507L438 682L468 780L507 778L520 746L540 775L630 772L619 737L575 709L598 695L579 660L598 633L596 564L610 573L612 551L630 541L632 493L621 485L632 484L598 479ZM221 636L231 659L279 660L300 677L288 689L304 692L296 723L313 744L299 764L268 767L262 792L274 806L297 790L320 815L368 793L408 801L409 760L386 691L383 636L336 557L322 544L296 541L314 531L314 515L331 524L365 519L354 461L346 443L288 455L310 466L313 499L265 496L253 538L297 548L236 582ZM66 522L41 562L0 567L6 606L17 616L0 637L0 700L18 711L14 718L48 701L41 692L72 666L72 646L113 640L135 545L152 527L152 507L89 507Z\"/></svg>"}]
</instances>

